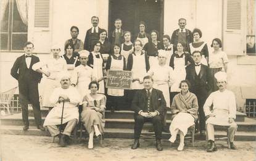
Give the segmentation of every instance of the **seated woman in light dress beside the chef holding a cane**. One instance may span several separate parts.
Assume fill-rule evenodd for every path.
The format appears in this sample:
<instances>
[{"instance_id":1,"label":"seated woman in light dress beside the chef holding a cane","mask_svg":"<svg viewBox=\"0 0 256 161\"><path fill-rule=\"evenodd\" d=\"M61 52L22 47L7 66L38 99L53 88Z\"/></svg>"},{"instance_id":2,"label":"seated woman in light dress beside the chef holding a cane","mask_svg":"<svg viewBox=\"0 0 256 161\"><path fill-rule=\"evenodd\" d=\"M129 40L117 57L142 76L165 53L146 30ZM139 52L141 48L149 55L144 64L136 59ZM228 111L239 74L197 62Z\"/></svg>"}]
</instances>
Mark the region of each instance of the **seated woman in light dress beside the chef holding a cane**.
<instances>
[{"instance_id":1,"label":"seated woman in light dress beside the chef holding a cane","mask_svg":"<svg viewBox=\"0 0 256 161\"><path fill-rule=\"evenodd\" d=\"M99 83L91 81L89 83L91 93L83 97L83 111L81 112L81 122L84 123L86 131L89 133L88 149L93 149L94 133L102 140L104 133L104 110L105 110L105 96L98 94Z\"/></svg>"}]
</instances>

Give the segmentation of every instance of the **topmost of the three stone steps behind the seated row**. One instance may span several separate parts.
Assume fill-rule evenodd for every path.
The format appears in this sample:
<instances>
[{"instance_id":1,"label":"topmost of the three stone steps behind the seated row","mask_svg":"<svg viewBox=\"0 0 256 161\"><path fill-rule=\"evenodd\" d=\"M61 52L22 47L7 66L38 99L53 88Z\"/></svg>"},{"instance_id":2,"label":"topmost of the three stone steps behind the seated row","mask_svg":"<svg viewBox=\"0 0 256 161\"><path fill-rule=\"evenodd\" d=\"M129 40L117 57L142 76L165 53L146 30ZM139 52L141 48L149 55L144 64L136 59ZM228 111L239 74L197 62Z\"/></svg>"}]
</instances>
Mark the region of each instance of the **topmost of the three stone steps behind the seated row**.
<instances>
[{"instance_id":1,"label":"topmost of the three stone steps behind the seated row","mask_svg":"<svg viewBox=\"0 0 256 161\"><path fill-rule=\"evenodd\" d=\"M46 117L48 114L48 109L42 108L41 109L41 116ZM33 117L33 110L29 110L29 116ZM237 122L244 122L244 118L246 117L246 114L243 114L242 112L236 112L236 121ZM134 112L130 110L119 110L115 112L111 112L110 110L105 111L105 118L129 118L133 119L134 118ZM167 111L167 119L171 119L171 112L170 110Z\"/></svg>"}]
</instances>

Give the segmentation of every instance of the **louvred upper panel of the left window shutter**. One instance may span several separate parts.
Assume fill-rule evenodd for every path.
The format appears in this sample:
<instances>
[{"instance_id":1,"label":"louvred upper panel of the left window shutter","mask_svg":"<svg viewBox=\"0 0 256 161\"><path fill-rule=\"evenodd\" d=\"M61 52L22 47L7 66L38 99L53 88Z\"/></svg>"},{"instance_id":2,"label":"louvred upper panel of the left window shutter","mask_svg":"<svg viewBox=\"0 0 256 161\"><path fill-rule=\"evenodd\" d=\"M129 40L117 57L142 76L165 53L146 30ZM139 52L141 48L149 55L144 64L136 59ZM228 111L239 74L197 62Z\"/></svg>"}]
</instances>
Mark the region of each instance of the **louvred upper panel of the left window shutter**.
<instances>
[{"instance_id":1,"label":"louvred upper panel of the left window shutter","mask_svg":"<svg viewBox=\"0 0 256 161\"><path fill-rule=\"evenodd\" d=\"M49 27L50 0L35 0L35 27Z\"/></svg>"}]
</instances>

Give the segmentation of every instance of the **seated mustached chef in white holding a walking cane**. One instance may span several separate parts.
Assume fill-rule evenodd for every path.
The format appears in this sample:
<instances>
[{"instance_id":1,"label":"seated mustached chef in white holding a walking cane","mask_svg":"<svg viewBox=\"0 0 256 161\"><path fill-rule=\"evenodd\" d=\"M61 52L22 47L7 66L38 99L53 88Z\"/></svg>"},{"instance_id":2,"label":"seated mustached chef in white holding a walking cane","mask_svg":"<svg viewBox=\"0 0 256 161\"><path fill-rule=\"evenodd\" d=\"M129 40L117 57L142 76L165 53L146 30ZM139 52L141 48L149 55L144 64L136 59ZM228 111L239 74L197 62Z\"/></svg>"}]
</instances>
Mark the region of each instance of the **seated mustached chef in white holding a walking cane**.
<instances>
[{"instance_id":1,"label":"seated mustached chef in white holding a walking cane","mask_svg":"<svg viewBox=\"0 0 256 161\"><path fill-rule=\"evenodd\" d=\"M76 106L81 101L81 97L77 89L70 86L70 76L68 72L61 74L60 85L61 87L54 89L51 94L50 102L55 105L45 118L44 126L46 126L51 133L51 136L59 136L59 145L64 147L67 145L69 136L78 122L79 113ZM63 105L62 125L67 125L64 131L60 133L57 125L61 123Z\"/></svg>"}]
</instances>

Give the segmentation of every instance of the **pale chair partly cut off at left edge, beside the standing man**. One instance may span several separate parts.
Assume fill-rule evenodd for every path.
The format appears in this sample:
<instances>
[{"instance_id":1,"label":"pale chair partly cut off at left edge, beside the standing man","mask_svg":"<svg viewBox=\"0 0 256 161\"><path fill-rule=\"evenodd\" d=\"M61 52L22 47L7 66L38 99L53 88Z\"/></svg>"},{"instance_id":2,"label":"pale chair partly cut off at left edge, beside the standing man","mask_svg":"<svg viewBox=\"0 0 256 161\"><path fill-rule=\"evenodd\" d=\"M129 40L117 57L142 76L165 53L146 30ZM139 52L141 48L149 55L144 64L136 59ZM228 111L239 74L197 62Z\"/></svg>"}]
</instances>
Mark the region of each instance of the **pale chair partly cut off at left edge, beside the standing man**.
<instances>
[{"instance_id":1,"label":"pale chair partly cut off at left edge, beside the standing man","mask_svg":"<svg viewBox=\"0 0 256 161\"><path fill-rule=\"evenodd\" d=\"M12 101L12 97L14 97L14 93L17 90L17 86L15 88L9 89L3 93L0 93L0 105L7 109L8 113L10 114L11 107L10 102Z\"/></svg>"}]
</instances>

